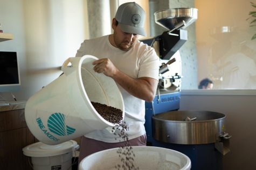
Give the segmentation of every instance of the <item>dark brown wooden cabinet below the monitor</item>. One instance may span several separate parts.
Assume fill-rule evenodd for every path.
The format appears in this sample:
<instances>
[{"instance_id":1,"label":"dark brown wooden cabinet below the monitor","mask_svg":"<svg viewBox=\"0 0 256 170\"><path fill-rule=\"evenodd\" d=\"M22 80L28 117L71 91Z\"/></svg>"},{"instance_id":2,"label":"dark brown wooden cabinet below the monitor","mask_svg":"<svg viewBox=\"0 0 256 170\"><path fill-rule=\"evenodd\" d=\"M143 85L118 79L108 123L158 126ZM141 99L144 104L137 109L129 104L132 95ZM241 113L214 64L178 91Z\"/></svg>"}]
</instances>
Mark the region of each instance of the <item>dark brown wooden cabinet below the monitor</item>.
<instances>
[{"instance_id":1,"label":"dark brown wooden cabinet below the monitor","mask_svg":"<svg viewBox=\"0 0 256 170\"><path fill-rule=\"evenodd\" d=\"M38 141L27 128L24 108L8 107L13 106L0 106L0 169L32 170L22 149Z\"/></svg>"}]
</instances>

